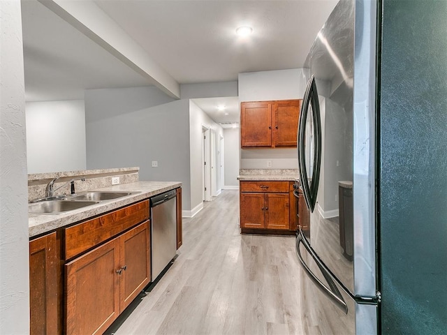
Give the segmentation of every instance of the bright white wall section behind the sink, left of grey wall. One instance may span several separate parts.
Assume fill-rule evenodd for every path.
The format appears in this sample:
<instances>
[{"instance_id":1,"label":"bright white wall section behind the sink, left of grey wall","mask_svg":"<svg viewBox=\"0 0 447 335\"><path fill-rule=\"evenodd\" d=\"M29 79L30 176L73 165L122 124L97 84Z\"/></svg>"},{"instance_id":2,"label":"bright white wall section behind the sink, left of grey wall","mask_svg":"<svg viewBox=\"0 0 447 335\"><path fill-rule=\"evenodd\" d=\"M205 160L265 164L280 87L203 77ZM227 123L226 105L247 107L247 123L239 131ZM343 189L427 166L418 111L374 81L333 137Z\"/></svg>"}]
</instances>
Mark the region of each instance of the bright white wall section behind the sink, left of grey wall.
<instances>
[{"instance_id":1,"label":"bright white wall section behind the sink, left of grey wall","mask_svg":"<svg viewBox=\"0 0 447 335\"><path fill-rule=\"evenodd\" d=\"M83 100L26 104L28 173L86 169Z\"/></svg>"}]
</instances>

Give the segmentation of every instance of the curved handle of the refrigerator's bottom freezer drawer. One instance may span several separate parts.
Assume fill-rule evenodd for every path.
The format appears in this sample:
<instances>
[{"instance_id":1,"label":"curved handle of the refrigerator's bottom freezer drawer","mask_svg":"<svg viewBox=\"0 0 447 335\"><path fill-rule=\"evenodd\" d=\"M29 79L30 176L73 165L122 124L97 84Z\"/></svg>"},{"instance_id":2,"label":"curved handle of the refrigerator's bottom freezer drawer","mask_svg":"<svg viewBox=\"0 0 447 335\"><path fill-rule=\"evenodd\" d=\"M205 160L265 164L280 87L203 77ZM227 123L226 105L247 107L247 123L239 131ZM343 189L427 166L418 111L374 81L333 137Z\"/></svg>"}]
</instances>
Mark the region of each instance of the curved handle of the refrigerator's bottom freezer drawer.
<instances>
[{"instance_id":1,"label":"curved handle of the refrigerator's bottom freezer drawer","mask_svg":"<svg viewBox=\"0 0 447 335\"><path fill-rule=\"evenodd\" d=\"M309 255L312 256L312 258L315 260L316 265L318 265L318 268L320 269L321 273L323 274L325 280L328 282L330 288L328 286L324 285L312 272L311 269L307 266L305 260L302 258L301 251L300 251L300 243L306 248ZM340 308L344 313L348 314L348 306L346 305L346 302L344 301L342 294L337 289L337 286L335 285L334 281L332 281L332 278L330 277L330 274L324 269L324 265L321 264L321 261L318 260L316 255L312 253L309 245L305 241L305 238L302 237L302 232L298 233L298 236L296 237L296 254L298 255L298 258L301 262L302 267L305 269L307 275L309 278L312 279L312 281L315 283L315 285L323 292L326 297L328 297L334 304Z\"/></svg>"}]
</instances>

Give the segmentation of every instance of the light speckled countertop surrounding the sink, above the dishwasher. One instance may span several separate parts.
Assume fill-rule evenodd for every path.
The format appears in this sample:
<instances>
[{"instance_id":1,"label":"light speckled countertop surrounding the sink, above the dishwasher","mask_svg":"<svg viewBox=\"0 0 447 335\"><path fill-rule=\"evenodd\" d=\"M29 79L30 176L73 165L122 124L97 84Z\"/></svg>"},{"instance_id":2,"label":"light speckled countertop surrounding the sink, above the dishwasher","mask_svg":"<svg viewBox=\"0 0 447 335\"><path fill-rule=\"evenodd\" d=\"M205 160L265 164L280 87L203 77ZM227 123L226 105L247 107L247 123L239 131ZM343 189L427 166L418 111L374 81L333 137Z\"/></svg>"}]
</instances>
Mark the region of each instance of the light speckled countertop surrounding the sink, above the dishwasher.
<instances>
[{"instance_id":1,"label":"light speckled countertop surrounding the sink, above the dishwasher","mask_svg":"<svg viewBox=\"0 0 447 335\"><path fill-rule=\"evenodd\" d=\"M93 204L82 209L76 209L65 214L29 214L29 237L34 237L57 228L62 228L71 223L76 223L91 218L92 216L103 214L107 211L126 206L127 204L132 204L133 202L145 200L153 195L170 191L180 186L182 186L182 183L179 181L137 181L130 184L120 184L91 190L113 192L126 191L135 193L116 200L99 202L98 204Z\"/></svg>"}]
</instances>

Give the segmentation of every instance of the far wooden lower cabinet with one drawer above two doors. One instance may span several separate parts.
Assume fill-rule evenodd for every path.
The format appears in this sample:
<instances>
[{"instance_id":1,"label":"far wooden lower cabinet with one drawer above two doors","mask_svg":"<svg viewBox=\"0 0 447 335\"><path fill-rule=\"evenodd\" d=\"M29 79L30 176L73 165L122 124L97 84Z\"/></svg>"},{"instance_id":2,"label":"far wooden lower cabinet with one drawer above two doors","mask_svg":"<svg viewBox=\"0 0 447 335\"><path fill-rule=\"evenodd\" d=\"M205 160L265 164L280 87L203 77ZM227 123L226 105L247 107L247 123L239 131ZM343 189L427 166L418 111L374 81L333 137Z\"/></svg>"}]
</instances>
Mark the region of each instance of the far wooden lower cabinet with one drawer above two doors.
<instances>
[{"instance_id":1,"label":"far wooden lower cabinet with one drawer above two doors","mask_svg":"<svg viewBox=\"0 0 447 335\"><path fill-rule=\"evenodd\" d=\"M240 181L240 227L291 230L288 181ZM263 192L260 192L263 190Z\"/></svg>"}]
</instances>

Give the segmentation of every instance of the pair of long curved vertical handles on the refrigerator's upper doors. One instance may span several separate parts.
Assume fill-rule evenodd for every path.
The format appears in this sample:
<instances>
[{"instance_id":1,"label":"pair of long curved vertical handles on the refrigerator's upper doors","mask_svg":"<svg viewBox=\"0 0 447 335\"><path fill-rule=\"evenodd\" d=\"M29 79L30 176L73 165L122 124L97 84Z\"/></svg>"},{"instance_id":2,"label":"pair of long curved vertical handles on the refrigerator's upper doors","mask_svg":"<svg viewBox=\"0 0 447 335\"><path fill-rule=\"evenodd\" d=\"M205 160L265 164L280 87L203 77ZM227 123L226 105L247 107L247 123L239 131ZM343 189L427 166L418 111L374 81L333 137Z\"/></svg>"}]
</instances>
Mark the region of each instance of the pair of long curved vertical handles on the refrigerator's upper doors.
<instances>
[{"instance_id":1,"label":"pair of long curved vertical handles on the refrigerator's upper doors","mask_svg":"<svg viewBox=\"0 0 447 335\"><path fill-rule=\"evenodd\" d=\"M309 185L309 178L306 168L305 157L305 130L307 123L307 112L309 105L312 105L312 118L314 126L312 132L314 133L314 164L312 168L312 177ZM302 100L300 119L298 123L298 171L300 180L302 181L302 191L311 212L314 212L316 204L316 195L318 193L318 183L320 181L321 168L321 118L320 118L320 103L318 102L318 92L316 90L315 77L312 75L307 83L305 96Z\"/></svg>"}]
</instances>

